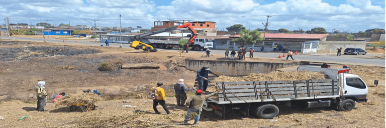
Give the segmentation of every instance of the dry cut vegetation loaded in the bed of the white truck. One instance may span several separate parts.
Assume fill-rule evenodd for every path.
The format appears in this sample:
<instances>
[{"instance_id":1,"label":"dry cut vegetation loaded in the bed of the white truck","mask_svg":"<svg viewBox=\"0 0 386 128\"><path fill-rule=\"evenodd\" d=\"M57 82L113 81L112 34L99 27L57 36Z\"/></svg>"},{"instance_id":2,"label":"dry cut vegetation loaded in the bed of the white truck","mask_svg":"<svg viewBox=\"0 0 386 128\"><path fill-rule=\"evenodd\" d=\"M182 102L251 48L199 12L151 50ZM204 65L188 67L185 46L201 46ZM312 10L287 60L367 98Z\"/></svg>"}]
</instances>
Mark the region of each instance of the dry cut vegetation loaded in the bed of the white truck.
<instances>
[{"instance_id":1,"label":"dry cut vegetation loaded in the bed of the white truck","mask_svg":"<svg viewBox=\"0 0 386 128\"><path fill-rule=\"evenodd\" d=\"M220 81L277 81L277 80L307 80L307 79L327 79L328 76L322 72L313 71L271 71L269 73L250 73L246 76L232 77L232 76L220 76L217 77L215 82Z\"/></svg>"}]
</instances>

